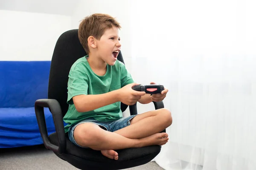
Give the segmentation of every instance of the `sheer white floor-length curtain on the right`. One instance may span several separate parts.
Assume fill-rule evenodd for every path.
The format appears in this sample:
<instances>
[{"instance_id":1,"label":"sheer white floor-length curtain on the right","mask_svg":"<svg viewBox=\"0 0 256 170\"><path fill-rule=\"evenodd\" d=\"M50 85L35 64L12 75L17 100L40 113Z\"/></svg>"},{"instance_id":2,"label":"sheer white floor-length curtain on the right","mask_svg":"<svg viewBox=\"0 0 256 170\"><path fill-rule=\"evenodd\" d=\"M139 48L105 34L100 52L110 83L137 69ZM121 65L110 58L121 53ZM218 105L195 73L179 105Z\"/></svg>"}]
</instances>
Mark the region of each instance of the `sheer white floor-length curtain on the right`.
<instances>
[{"instance_id":1,"label":"sheer white floor-length curtain on the right","mask_svg":"<svg viewBox=\"0 0 256 170\"><path fill-rule=\"evenodd\" d=\"M255 0L134 0L132 75L165 85L165 170L256 170ZM139 105L139 112L153 106Z\"/></svg>"}]
</instances>

